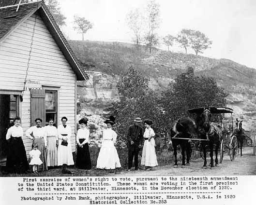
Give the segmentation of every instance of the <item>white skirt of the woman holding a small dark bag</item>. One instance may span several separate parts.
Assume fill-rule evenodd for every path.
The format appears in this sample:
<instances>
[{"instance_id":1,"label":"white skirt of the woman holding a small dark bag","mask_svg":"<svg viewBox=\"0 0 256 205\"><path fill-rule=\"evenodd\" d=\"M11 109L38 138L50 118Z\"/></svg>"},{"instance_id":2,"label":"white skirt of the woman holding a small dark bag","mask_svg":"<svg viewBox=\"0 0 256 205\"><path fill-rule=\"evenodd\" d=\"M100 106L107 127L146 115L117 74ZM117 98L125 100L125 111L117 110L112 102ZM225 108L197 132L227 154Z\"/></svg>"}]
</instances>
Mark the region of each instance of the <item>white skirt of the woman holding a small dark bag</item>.
<instances>
[{"instance_id":1,"label":"white skirt of the woman holding a small dark bag","mask_svg":"<svg viewBox=\"0 0 256 205\"><path fill-rule=\"evenodd\" d=\"M68 146L61 145L61 139L59 139L59 147L58 147L58 166L62 166L63 164L73 165L73 154L71 149L71 143L68 141Z\"/></svg>"}]
</instances>

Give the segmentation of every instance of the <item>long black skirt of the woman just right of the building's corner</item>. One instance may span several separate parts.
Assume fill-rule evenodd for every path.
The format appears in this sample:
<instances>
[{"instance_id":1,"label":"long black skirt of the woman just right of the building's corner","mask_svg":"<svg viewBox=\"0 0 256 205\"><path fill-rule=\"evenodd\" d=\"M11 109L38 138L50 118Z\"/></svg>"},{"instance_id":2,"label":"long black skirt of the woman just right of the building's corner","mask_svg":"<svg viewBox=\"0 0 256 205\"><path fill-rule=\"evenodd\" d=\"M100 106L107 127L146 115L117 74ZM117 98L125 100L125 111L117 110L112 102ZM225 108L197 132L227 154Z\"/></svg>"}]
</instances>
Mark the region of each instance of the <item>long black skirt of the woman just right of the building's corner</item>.
<instances>
[{"instance_id":1,"label":"long black skirt of the woman just right of the building's corner","mask_svg":"<svg viewBox=\"0 0 256 205\"><path fill-rule=\"evenodd\" d=\"M79 139L79 142L83 143L84 140L85 139ZM76 166L79 169L91 169L88 143L85 143L83 147L77 145Z\"/></svg>"}]
</instances>

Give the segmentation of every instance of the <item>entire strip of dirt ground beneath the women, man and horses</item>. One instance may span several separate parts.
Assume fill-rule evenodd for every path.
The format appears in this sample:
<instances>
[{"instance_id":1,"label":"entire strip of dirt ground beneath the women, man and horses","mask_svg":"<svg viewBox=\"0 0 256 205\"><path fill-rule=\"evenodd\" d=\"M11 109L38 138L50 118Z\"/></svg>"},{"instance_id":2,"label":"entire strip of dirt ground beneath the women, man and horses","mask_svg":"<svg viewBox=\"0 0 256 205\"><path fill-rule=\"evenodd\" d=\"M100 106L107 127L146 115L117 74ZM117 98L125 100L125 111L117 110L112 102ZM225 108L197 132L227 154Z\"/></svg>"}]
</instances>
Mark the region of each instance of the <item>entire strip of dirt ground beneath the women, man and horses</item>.
<instances>
[{"instance_id":1,"label":"entire strip of dirt ground beneath the women, man and horses","mask_svg":"<svg viewBox=\"0 0 256 205\"><path fill-rule=\"evenodd\" d=\"M219 155L218 155L219 158ZM210 159L207 159L208 164ZM179 167L174 168L173 164L165 166L157 166L151 171L132 170L128 172L126 169L120 168L117 170L97 170L93 167L91 170L81 170L77 168L69 168L74 174L67 175L61 173L61 168L54 168L48 171L39 172L38 174L3 174L1 177L63 177L63 176L195 176L195 175L256 175L256 156L253 156L253 148L243 148L243 156L240 155L234 161L230 161L229 156L225 153L222 164L218 167L202 169L203 159L199 158L192 160L190 166L181 168L181 161Z\"/></svg>"}]
</instances>

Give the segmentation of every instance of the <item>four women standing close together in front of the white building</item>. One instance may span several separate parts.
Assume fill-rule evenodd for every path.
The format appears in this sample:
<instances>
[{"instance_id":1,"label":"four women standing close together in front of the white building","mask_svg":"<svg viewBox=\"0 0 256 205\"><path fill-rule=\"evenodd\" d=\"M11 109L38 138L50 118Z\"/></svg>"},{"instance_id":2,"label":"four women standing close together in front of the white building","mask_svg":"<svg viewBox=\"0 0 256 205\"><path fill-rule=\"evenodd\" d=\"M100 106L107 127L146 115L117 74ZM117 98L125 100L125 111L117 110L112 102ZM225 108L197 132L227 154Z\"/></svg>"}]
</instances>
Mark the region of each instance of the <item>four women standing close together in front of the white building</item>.
<instances>
[{"instance_id":1,"label":"four women standing close together in front of the white building","mask_svg":"<svg viewBox=\"0 0 256 205\"><path fill-rule=\"evenodd\" d=\"M74 164L70 141L71 127L66 124L67 118L61 118L62 124L58 129L53 126L53 119L50 119L45 127L42 126L42 122L40 118L35 119L36 125L26 131L26 136L32 140L32 150L36 147L40 153L40 160L36 161L39 164L31 164L35 160L32 159L33 156L30 156L29 161L27 160L20 118L15 117L14 125L6 134L8 142L6 171L8 173L25 173L29 169L29 164L38 165L38 170L42 171L61 165L63 173L71 173L66 169L67 165Z\"/></svg>"}]
</instances>

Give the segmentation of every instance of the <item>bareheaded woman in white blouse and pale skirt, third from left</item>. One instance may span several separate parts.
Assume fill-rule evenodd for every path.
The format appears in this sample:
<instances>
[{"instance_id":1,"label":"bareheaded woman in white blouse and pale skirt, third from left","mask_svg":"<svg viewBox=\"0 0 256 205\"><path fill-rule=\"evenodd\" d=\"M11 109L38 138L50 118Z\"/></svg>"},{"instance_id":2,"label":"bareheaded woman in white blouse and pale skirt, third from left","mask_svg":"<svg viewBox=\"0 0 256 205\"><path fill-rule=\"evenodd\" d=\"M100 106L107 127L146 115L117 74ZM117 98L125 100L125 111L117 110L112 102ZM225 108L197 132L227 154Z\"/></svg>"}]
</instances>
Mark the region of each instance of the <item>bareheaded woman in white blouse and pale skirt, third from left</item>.
<instances>
[{"instance_id":1,"label":"bareheaded woman in white blouse and pale skirt, third from left","mask_svg":"<svg viewBox=\"0 0 256 205\"><path fill-rule=\"evenodd\" d=\"M47 138L47 166L57 166L58 151L57 146L59 145L58 131L53 126L53 119L49 120L49 125L45 126L45 135Z\"/></svg>"}]
</instances>

